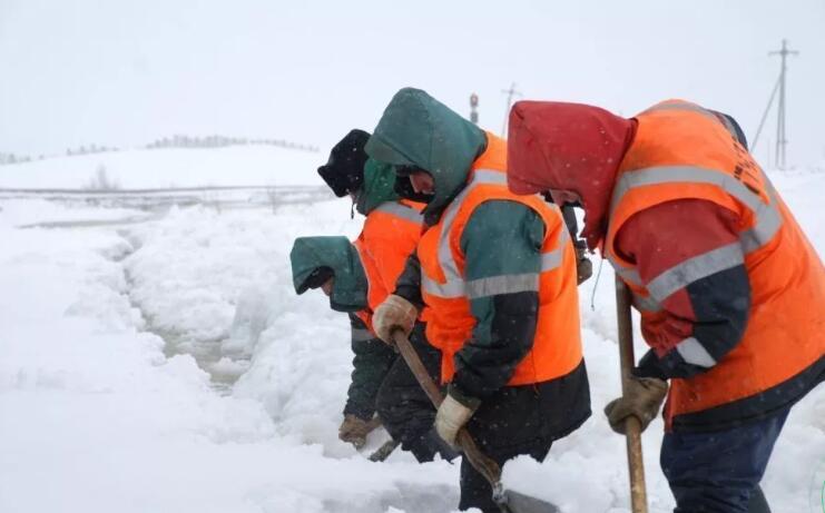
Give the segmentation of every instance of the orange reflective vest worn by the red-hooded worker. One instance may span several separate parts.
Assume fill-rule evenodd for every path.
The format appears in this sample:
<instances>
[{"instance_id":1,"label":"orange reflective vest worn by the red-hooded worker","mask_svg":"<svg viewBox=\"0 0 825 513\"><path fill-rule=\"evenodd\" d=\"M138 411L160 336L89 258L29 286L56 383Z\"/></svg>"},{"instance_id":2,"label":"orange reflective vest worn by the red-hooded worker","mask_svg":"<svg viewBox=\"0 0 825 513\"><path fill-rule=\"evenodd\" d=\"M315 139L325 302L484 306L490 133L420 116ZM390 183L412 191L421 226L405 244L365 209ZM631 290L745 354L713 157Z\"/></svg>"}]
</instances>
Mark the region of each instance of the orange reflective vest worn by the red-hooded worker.
<instances>
[{"instance_id":1,"label":"orange reflective vest worn by the red-hooded worker","mask_svg":"<svg viewBox=\"0 0 825 513\"><path fill-rule=\"evenodd\" d=\"M740 343L707 372L671 381L665 412L671 426L675 416L754 396L823 357L825 269L767 176L711 112L671 100L636 119L636 138L616 179L605 250L634 294L642 333L645 325L665 319L661 302L704 276L744 264L752 289ZM713 201L738 216L739 241L642 286L635 263L617 253L616 236L635 214L685 198Z\"/></svg>"}]
</instances>

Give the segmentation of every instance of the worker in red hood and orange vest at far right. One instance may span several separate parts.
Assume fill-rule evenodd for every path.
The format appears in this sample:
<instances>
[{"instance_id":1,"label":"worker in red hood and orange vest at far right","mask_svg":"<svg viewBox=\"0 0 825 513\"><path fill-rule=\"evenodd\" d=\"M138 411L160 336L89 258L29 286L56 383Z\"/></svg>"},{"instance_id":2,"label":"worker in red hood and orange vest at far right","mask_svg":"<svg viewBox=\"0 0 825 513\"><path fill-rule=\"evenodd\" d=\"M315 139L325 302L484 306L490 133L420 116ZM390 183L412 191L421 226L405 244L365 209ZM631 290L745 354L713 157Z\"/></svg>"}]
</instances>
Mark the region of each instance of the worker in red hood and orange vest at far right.
<instances>
[{"instance_id":1,"label":"worker in red hood and orange vest at far right","mask_svg":"<svg viewBox=\"0 0 825 513\"><path fill-rule=\"evenodd\" d=\"M613 430L647 426L667 394L675 511L769 511L774 443L825 378L825 269L738 126L681 100L630 119L520 101L509 136L510 189L581 205L641 314L651 348L606 407Z\"/></svg>"}]
</instances>

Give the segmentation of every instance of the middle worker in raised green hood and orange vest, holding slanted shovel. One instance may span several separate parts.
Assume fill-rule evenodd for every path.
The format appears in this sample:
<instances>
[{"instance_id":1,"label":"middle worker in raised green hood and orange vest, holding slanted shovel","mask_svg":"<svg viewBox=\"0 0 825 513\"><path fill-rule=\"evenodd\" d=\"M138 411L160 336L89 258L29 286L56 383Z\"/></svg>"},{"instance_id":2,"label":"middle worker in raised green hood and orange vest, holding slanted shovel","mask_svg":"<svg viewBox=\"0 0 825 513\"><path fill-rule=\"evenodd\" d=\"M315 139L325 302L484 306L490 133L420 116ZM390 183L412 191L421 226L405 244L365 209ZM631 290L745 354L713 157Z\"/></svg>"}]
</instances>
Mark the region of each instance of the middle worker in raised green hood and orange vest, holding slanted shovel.
<instances>
[{"instance_id":1,"label":"middle worker in raised green hood and orange vest, holding slanted shovel","mask_svg":"<svg viewBox=\"0 0 825 513\"><path fill-rule=\"evenodd\" d=\"M422 90L393 97L366 151L395 166L396 189L426 201L426 231L375 309L375 332L387 342L409 333L424 308L448 385L439 435L454 444L466 426L499 464L543 460L590 416L577 258L561 211L510 193L507 142ZM499 511L465 460L459 507Z\"/></svg>"}]
</instances>

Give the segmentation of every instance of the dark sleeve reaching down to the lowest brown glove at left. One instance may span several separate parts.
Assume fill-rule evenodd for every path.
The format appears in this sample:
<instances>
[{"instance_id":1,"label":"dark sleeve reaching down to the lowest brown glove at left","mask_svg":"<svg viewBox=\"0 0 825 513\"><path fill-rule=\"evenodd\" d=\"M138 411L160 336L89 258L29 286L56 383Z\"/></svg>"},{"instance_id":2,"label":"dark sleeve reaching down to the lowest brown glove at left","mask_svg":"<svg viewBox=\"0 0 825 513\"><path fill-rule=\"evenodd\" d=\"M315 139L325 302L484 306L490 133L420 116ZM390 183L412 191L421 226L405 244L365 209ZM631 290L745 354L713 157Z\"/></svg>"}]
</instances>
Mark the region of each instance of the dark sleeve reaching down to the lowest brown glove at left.
<instances>
[{"instance_id":1,"label":"dark sleeve reaching down to the lowest brown glove at left","mask_svg":"<svg viewBox=\"0 0 825 513\"><path fill-rule=\"evenodd\" d=\"M375 338L366 325L350 314L352 326L352 376L344 415L369 420L375 413L375 396L386 373L395 362L395 352Z\"/></svg>"}]
</instances>

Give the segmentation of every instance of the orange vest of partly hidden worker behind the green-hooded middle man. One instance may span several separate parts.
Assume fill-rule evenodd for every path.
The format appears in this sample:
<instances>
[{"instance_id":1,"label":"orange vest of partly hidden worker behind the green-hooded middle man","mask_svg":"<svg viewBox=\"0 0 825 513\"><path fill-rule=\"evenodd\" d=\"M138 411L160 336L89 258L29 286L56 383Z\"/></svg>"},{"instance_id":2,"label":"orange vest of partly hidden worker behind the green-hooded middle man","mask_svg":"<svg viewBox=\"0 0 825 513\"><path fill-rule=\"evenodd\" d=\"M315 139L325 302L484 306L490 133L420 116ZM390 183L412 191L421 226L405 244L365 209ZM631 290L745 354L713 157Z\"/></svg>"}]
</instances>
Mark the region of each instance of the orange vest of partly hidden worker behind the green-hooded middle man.
<instances>
[{"instance_id":1,"label":"orange vest of partly hidden worker behind the green-hooded middle man","mask_svg":"<svg viewBox=\"0 0 825 513\"><path fill-rule=\"evenodd\" d=\"M372 313L393 293L406 258L421 238L424 204L401 199L385 201L366 216L361 235L353 243L361 256L369 289L367 308L356 315L372 331Z\"/></svg>"}]
</instances>

